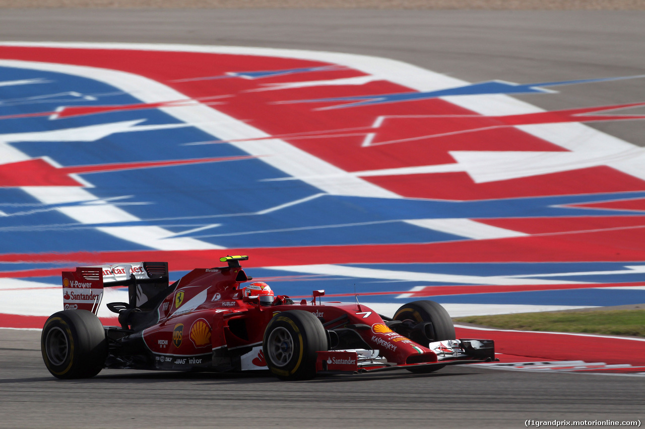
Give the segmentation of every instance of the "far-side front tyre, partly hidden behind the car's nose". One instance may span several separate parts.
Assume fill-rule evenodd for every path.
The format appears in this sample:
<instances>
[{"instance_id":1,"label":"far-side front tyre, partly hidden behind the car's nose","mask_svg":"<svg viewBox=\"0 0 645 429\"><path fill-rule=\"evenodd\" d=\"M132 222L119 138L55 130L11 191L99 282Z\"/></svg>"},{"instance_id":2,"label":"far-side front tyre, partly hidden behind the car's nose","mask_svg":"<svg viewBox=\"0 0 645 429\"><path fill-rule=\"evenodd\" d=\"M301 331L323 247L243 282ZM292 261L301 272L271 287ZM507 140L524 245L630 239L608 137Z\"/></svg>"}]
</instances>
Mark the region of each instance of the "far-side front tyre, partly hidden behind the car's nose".
<instances>
[{"instance_id":1,"label":"far-side front tyre, partly hidden behind the car's nose","mask_svg":"<svg viewBox=\"0 0 645 429\"><path fill-rule=\"evenodd\" d=\"M394 314L395 320L412 320L415 322L432 322L433 339L432 341L444 341L445 339L456 339L455 325L452 323L450 314L442 307L441 304L435 301L414 301L403 305ZM410 338L422 346L428 347L430 341L427 339L422 343L419 338ZM426 374L434 372L445 367L445 365L437 365L435 367L421 367L421 368L406 368L415 374Z\"/></svg>"}]
</instances>

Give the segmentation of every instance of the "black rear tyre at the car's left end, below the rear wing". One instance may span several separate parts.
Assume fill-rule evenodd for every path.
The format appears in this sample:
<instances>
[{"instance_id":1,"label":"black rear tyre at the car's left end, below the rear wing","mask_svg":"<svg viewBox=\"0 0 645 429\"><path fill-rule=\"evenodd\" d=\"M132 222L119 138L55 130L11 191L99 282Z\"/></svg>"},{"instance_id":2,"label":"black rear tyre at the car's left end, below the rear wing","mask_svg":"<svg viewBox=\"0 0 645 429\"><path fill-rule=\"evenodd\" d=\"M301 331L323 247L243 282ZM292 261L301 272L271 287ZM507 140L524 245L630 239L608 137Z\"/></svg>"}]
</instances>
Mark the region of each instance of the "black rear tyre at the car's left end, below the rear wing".
<instances>
[{"instance_id":1,"label":"black rear tyre at the car's left end, below the rear wing","mask_svg":"<svg viewBox=\"0 0 645 429\"><path fill-rule=\"evenodd\" d=\"M52 376L89 378L99 374L108 356L103 325L87 310L63 310L45 322L41 352Z\"/></svg>"}]
</instances>

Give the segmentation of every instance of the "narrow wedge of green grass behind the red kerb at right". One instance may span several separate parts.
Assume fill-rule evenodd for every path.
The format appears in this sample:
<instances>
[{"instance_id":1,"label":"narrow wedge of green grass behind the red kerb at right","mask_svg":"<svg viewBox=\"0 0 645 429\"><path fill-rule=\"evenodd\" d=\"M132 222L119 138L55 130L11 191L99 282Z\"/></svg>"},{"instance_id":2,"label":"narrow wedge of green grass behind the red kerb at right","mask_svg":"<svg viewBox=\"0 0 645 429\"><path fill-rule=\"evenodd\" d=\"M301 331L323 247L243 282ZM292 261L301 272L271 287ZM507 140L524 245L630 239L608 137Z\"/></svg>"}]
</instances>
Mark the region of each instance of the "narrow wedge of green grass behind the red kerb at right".
<instances>
[{"instance_id":1,"label":"narrow wedge of green grass behind the red kerb at right","mask_svg":"<svg viewBox=\"0 0 645 429\"><path fill-rule=\"evenodd\" d=\"M456 318L493 328L645 337L645 310L499 314Z\"/></svg>"}]
</instances>

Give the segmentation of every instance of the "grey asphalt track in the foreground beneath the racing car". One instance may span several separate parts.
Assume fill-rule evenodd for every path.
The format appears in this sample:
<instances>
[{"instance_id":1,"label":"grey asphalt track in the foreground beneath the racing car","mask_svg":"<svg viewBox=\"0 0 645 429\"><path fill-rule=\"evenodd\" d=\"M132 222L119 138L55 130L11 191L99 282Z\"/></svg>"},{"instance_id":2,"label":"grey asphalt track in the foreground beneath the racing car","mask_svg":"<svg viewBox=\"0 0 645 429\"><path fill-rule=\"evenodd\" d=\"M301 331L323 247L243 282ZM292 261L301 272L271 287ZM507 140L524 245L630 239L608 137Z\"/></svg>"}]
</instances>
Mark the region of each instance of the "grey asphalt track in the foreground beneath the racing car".
<instances>
[{"instance_id":1,"label":"grey asphalt track in the foreground beneath the racing car","mask_svg":"<svg viewBox=\"0 0 645 429\"><path fill-rule=\"evenodd\" d=\"M0 330L6 428L519 428L533 420L643 421L645 377L470 366L415 376L319 377L103 370L61 381L40 332Z\"/></svg>"}]
</instances>

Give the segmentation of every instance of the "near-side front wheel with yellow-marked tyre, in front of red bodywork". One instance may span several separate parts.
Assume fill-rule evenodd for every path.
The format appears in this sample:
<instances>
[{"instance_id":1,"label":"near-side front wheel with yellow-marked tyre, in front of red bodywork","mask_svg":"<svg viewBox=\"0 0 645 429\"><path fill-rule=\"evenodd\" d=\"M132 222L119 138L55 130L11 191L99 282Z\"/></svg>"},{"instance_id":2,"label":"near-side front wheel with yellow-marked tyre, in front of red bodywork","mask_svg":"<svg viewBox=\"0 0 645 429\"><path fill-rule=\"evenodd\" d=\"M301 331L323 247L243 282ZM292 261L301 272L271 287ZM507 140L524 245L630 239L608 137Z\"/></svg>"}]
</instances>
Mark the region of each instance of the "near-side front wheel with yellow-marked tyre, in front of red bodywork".
<instances>
[{"instance_id":1,"label":"near-side front wheel with yellow-marked tyre, in front of red bodywork","mask_svg":"<svg viewBox=\"0 0 645 429\"><path fill-rule=\"evenodd\" d=\"M283 380L306 380L316 375L319 351L327 350L323 323L312 313L290 310L277 314L264 331L264 359Z\"/></svg>"}]
</instances>

